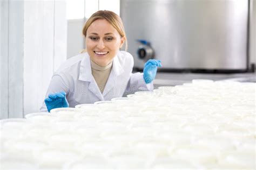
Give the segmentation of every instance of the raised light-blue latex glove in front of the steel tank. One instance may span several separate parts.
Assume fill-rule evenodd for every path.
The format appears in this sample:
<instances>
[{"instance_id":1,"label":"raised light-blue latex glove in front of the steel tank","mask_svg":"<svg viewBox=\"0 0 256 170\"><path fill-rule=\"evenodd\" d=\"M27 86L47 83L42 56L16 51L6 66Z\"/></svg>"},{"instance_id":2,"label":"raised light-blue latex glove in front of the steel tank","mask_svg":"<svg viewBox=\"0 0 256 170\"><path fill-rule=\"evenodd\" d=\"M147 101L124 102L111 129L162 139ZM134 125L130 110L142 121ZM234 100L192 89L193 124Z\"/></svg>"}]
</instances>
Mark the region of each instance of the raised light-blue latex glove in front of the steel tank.
<instances>
[{"instance_id":1,"label":"raised light-blue latex glove in front of the steel tank","mask_svg":"<svg viewBox=\"0 0 256 170\"><path fill-rule=\"evenodd\" d=\"M157 67L161 67L160 60L150 59L148 60L143 69L143 79L146 84L151 83L157 74Z\"/></svg>"}]
</instances>

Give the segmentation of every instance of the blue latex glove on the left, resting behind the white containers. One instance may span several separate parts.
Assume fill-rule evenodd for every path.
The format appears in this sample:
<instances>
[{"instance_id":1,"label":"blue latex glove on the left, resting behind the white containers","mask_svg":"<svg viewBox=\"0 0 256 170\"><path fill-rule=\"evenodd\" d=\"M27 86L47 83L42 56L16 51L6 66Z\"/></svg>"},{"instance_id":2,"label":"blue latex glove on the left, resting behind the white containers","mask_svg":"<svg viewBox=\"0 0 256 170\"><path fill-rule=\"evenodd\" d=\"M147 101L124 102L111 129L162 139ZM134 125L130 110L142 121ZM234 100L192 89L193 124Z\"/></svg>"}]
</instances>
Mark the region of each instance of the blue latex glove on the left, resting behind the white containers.
<instances>
[{"instance_id":1,"label":"blue latex glove on the left, resting behind the white containers","mask_svg":"<svg viewBox=\"0 0 256 170\"><path fill-rule=\"evenodd\" d=\"M50 94L48 98L44 100L48 112L55 108L68 108L69 103L66 100L66 93L64 91L60 93Z\"/></svg>"}]
</instances>

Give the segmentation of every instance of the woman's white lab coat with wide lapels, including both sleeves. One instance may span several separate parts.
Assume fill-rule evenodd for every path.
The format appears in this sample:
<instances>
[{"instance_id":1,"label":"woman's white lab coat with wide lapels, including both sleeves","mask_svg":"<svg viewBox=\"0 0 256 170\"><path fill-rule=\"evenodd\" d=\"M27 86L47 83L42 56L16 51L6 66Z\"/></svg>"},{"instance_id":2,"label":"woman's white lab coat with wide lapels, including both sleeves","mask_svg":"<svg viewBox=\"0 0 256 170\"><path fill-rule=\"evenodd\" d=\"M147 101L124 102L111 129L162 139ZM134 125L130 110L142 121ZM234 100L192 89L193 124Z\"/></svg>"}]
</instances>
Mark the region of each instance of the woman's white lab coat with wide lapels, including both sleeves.
<instances>
[{"instance_id":1,"label":"woman's white lab coat with wide lapels, including both sleeves","mask_svg":"<svg viewBox=\"0 0 256 170\"><path fill-rule=\"evenodd\" d=\"M69 107L75 107L77 104L111 100L136 91L153 90L153 83L146 84L143 73L132 74L132 68L132 55L119 51L113 59L109 79L101 93L92 76L89 54L78 54L66 60L53 74L45 98L49 94L65 91ZM44 102L40 111L47 111Z\"/></svg>"}]
</instances>

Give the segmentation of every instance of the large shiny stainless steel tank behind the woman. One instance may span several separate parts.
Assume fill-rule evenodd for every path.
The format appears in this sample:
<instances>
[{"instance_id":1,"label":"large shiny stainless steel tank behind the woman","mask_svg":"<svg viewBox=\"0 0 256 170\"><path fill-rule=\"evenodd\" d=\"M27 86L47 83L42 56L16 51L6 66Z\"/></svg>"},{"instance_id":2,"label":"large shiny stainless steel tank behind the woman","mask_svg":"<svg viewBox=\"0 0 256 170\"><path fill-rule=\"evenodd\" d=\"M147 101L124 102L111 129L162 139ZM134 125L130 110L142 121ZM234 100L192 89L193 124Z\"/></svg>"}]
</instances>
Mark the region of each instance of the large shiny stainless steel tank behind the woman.
<instances>
[{"instance_id":1,"label":"large shiny stainless steel tank behind the woman","mask_svg":"<svg viewBox=\"0 0 256 170\"><path fill-rule=\"evenodd\" d=\"M163 69L247 69L247 0L120 0L120 16L136 68L146 41Z\"/></svg>"}]
</instances>

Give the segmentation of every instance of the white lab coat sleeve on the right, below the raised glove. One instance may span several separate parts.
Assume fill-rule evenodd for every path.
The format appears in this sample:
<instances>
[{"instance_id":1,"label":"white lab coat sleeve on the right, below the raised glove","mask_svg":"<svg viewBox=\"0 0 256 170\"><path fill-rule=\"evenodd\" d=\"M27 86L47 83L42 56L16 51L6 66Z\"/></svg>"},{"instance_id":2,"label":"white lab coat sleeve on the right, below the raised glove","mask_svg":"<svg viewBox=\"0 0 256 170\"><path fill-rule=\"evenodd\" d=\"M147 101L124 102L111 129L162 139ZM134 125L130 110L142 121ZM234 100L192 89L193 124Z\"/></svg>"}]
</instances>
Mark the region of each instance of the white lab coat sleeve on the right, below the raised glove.
<instances>
[{"instance_id":1,"label":"white lab coat sleeve on the right, below the raised glove","mask_svg":"<svg viewBox=\"0 0 256 170\"><path fill-rule=\"evenodd\" d=\"M143 73L132 73L123 96L134 94L136 91L152 91L153 89L153 82L146 84Z\"/></svg>"}]
</instances>

